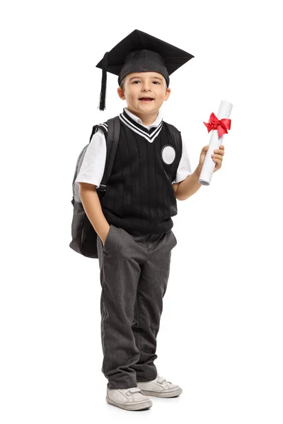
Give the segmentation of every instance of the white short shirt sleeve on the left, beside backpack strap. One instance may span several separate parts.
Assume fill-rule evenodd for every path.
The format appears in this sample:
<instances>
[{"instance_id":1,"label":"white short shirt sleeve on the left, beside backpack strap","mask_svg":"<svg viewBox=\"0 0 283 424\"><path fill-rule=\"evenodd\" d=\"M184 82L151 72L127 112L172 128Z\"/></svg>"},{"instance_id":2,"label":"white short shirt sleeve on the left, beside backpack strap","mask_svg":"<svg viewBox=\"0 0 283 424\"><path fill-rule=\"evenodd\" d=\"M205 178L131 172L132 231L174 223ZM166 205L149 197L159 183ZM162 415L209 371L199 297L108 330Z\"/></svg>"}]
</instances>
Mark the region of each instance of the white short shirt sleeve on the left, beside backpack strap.
<instances>
[{"instance_id":1,"label":"white short shirt sleeve on the left, beside backpack strap","mask_svg":"<svg viewBox=\"0 0 283 424\"><path fill-rule=\"evenodd\" d=\"M100 186L106 161L106 141L102 129L98 129L91 139L81 163L81 169L76 176L76 184L88 182Z\"/></svg>"}]
</instances>

